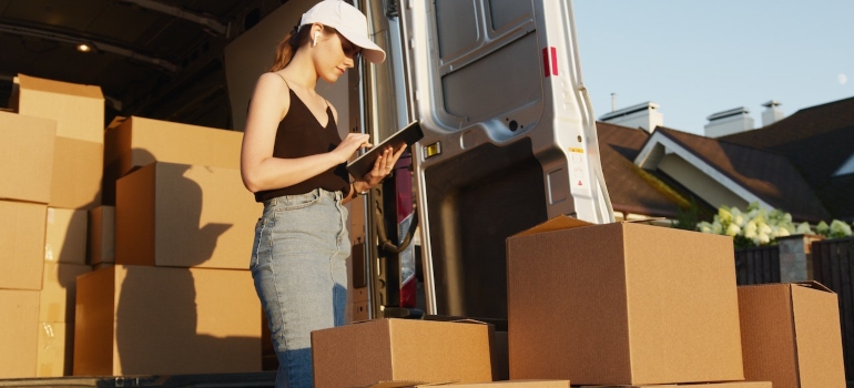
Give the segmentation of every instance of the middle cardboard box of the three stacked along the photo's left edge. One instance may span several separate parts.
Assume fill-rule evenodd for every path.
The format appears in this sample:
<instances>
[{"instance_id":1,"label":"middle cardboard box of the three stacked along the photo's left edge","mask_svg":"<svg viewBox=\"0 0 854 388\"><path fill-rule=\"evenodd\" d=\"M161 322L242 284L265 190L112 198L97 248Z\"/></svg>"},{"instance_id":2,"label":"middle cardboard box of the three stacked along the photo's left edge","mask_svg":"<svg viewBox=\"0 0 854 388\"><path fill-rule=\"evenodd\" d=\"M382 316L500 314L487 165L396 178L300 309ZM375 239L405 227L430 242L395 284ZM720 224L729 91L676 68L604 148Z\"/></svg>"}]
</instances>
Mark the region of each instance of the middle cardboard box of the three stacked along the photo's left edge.
<instances>
[{"instance_id":1,"label":"middle cardboard box of the three stacked along the photo's left edge","mask_svg":"<svg viewBox=\"0 0 854 388\"><path fill-rule=\"evenodd\" d=\"M0 288L41 289L48 206L0 201Z\"/></svg>"}]
</instances>

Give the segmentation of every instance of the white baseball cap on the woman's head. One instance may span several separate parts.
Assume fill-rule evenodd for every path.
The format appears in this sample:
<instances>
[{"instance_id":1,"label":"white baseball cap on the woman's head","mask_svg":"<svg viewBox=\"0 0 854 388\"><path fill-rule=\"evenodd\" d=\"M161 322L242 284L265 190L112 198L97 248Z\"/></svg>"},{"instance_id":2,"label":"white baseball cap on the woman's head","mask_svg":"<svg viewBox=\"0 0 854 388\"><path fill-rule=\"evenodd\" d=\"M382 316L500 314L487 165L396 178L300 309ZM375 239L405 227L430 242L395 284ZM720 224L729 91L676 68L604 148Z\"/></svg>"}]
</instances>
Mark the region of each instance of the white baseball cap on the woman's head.
<instances>
[{"instance_id":1,"label":"white baseball cap on the woman's head","mask_svg":"<svg viewBox=\"0 0 854 388\"><path fill-rule=\"evenodd\" d=\"M353 44L362 48L362 57L373 63L386 60L386 52L368 38L365 14L343 0L324 0L303 13L299 27L321 23L337 30Z\"/></svg>"}]
</instances>

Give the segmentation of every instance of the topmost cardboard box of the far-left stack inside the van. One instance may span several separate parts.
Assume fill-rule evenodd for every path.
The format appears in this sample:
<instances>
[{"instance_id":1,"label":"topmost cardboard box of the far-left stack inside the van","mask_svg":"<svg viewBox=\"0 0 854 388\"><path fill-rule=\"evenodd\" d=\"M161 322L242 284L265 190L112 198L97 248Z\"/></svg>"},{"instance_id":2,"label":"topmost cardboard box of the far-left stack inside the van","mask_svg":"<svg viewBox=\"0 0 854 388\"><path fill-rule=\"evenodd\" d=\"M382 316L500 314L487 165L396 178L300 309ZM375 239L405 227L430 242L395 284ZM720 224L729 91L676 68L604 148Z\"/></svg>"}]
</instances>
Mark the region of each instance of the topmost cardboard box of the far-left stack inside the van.
<instances>
[{"instance_id":1,"label":"topmost cardboard box of the far-left stack inside the van","mask_svg":"<svg viewBox=\"0 0 854 388\"><path fill-rule=\"evenodd\" d=\"M57 136L104 142L104 96L96 85L81 85L18 74L10 105L16 112L57 122Z\"/></svg>"}]
</instances>

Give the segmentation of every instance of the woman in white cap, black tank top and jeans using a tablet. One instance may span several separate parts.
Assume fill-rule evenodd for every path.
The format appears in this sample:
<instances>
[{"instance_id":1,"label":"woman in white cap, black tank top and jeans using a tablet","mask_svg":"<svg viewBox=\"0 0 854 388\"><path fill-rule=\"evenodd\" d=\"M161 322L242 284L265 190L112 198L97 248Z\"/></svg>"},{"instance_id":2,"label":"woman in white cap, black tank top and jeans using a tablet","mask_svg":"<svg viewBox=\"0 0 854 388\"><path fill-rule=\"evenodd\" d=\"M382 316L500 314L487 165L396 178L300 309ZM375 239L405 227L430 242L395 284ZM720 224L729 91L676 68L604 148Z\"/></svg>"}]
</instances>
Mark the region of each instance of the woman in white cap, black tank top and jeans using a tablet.
<instances>
[{"instance_id":1,"label":"woman in white cap, black tank top and jeans using a tablet","mask_svg":"<svg viewBox=\"0 0 854 388\"><path fill-rule=\"evenodd\" d=\"M385 52L367 35L365 16L340 0L303 14L255 85L244 130L241 174L264 212L250 268L279 361L277 387L312 387L313 330L344 324L349 256L344 205L392 172L405 147L384 150L350 182L346 161L368 135L337 131L337 112L315 91L359 57Z\"/></svg>"}]
</instances>

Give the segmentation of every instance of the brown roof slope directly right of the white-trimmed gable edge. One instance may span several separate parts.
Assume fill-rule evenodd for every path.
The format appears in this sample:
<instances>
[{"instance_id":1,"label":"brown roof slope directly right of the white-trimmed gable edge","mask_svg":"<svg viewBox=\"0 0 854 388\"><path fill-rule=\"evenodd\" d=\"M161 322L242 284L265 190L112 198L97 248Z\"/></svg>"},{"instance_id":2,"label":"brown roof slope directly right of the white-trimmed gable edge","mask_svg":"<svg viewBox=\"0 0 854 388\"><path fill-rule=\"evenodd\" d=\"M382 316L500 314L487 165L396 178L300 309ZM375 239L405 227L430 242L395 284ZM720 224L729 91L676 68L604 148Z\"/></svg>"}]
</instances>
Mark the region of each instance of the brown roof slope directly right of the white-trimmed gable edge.
<instances>
[{"instance_id":1,"label":"brown roof slope directly right of the white-trimmed gable edge","mask_svg":"<svg viewBox=\"0 0 854 388\"><path fill-rule=\"evenodd\" d=\"M817 222L830 216L807 182L783 155L662 126L655 129L649 142L663 142L662 137L668 139L671 146L695 156L694 164L704 164L703 167L721 174L723 180L719 182L734 192L755 195L796 219Z\"/></svg>"}]
</instances>

